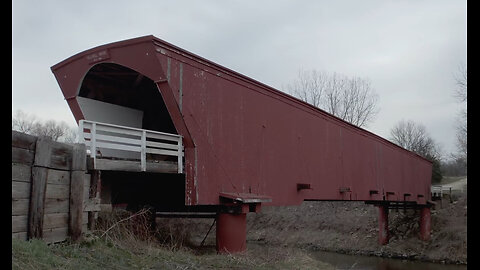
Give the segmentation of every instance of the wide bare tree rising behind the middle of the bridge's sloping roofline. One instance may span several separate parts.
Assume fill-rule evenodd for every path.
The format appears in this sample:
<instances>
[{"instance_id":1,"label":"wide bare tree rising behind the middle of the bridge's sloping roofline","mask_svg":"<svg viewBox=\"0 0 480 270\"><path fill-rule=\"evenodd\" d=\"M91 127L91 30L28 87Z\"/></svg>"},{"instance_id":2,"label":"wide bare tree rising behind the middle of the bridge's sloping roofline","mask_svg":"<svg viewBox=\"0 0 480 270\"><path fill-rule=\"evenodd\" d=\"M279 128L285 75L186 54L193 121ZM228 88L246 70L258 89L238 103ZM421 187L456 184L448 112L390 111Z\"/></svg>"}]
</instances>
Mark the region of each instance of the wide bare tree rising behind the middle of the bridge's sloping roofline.
<instances>
[{"instance_id":1,"label":"wide bare tree rising behind the middle of the bridge's sloping roofline","mask_svg":"<svg viewBox=\"0 0 480 270\"><path fill-rule=\"evenodd\" d=\"M297 79L287 84L286 90L359 127L367 126L378 113L378 95L367 79L300 70Z\"/></svg>"}]
</instances>

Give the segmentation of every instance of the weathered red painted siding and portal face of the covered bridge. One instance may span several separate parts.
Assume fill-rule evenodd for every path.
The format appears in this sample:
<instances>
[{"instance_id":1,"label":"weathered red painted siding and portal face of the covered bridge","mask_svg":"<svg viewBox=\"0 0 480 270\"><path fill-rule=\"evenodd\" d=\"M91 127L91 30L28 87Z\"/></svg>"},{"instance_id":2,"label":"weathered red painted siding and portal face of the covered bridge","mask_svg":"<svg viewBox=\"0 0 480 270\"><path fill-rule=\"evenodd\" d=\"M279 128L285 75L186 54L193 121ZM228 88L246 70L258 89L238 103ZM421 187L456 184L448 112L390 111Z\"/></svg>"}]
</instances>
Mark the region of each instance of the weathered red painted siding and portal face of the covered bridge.
<instances>
[{"instance_id":1,"label":"weathered red painted siding and portal face of the covered bridge","mask_svg":"<svg viewBox=\"0 0 480 270\"><path fill-rule=\"evenodd\" d=\"M219 204L222 192L268 196L271 205L430 200L429 161L154 36L92 48L52 67L77 121L82 80L102 63L158 86L185 140L186 205Z\"/></svg>"}]
</instances>

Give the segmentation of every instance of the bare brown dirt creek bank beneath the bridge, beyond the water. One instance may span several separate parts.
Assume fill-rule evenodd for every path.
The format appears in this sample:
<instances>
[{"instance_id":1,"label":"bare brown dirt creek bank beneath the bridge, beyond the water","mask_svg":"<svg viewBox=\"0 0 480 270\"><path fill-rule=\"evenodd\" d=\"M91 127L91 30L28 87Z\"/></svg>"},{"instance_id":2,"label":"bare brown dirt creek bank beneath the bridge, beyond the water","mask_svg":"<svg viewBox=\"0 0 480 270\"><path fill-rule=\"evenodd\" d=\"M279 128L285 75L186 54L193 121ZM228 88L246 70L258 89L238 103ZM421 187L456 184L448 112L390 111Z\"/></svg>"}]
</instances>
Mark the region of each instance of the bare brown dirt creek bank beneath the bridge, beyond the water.
<instances>
[{"instance_id":1,"label":"bare brown dirt creek bank beneath the bridge, beyond the water","mask_svg":"<svg viewBox=\"0 0 480 270\"><path fill-rule=\"evenodd\" d=\"M387 245L378 244L378 209L363 202L304 202L300 206L263 207L247 215L247 246L299 247L356 255L467 263L467 197L446 198L432 209L428 242L419 235L419 212L390 210ZM172 229L180 228L178 220ZM192 245L200 245L213 220L183 220ZM161 222L164 225L165 221ZM179 233L177 233L179 234ZM215 245L215 226L205 239Z\"/></svg>"}]
</instances>

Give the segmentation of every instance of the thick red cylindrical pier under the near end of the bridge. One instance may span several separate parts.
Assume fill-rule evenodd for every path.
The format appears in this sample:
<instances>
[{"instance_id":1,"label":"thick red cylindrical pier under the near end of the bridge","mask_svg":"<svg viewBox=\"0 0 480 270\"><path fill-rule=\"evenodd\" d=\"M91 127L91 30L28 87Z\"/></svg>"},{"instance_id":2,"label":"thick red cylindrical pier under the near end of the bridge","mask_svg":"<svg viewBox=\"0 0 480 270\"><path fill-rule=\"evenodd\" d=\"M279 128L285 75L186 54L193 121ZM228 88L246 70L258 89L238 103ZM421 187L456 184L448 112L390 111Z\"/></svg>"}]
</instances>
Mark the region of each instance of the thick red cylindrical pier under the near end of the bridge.
<instances>
[{"instance_id":1,"label":"thick red cylindrical pier under the near end of the bridge","mask_svg":"<svg viewBox=\"0 0 480 270\"><path fill-rule=\"evenodd\" d=\"M217 214L217 252L237 253L247 249L247 214Z\"/></svg>"}]
</instances>

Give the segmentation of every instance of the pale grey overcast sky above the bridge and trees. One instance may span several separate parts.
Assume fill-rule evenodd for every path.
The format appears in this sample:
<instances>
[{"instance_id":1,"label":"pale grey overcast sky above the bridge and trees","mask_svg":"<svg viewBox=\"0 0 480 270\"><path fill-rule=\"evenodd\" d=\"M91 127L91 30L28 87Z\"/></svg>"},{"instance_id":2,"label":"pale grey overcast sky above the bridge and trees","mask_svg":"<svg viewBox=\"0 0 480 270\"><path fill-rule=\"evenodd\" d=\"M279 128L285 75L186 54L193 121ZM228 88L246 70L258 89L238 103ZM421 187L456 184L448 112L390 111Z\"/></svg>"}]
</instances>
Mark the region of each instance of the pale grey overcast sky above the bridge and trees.
<instances>
[{"instance_id":1,"label":"pale grey overcast sky above the bridge and trees","mask_svg":"<svg viewBox=\"0 0 480 270\"><path fill-rule=\"evenodd\" d=\"M466 1L12 1L12 113L76 126L50 71L106 43L154 35L274 88L299 69L360 76L379 95L366 128L426 126L448 154L462 105Z\"/></svg>"}]
</instances>

